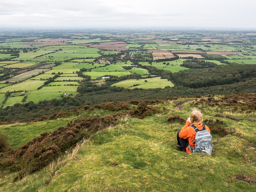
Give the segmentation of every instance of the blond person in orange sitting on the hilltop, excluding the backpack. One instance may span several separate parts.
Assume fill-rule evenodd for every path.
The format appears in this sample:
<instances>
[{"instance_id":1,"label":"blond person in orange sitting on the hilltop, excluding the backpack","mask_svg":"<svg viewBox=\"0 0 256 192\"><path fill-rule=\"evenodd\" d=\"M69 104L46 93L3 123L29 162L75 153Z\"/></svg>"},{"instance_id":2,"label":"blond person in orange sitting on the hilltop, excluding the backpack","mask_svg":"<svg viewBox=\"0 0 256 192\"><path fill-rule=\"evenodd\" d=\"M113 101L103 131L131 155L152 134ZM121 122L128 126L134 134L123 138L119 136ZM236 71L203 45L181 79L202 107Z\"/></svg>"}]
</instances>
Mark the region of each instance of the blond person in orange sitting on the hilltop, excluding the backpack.
<instances>
[{"instance_id":1,"label":"blond person in orange sitting on the hilltop, excluding the backpack","mask_svg":"<svg viewBox=\"0 0 256 192\"><path fill-rule=\"evenodd\" d=\"M197 129L202 130L204 124L203 121L203 115L198 110L193 110L190 117L187 119L185 126L182 129L179 129L177 133L177 148L179 151L186 151L187 153L191 153L190 150L195 146L195 135L196 131L193 127L190 127L191 125L195 125ZM209 127L205 125L206 130L209 131ZM191 147L189 147L189 145ZM189 149L190 148L190 149Z\"/></svg>"}]
</instances>

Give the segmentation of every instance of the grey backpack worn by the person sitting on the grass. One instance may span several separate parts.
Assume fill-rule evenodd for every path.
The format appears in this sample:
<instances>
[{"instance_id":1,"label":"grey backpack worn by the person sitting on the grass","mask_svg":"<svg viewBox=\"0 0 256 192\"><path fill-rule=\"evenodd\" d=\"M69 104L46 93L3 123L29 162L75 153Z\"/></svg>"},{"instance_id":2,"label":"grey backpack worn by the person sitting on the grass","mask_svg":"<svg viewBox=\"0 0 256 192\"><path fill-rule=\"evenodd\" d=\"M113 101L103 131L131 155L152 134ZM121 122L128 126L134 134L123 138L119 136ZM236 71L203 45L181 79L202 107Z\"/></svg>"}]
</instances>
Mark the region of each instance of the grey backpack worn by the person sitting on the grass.
<instances>
[{"instance_id":1,"label":"grey backpack worn by the person sitting on the grass","mask_svg":"<svg viewBox=\"0 0 256 192\"><path fill-rule=\"evenodd\" d=\"M203 125L202 129L198 129L195 125L191 125L191 127L195 130L195 147L192 148L190 145L189 150L193 153L207 153L209 155L212 154L212 135Z\"/></svg>"}]
</instances>

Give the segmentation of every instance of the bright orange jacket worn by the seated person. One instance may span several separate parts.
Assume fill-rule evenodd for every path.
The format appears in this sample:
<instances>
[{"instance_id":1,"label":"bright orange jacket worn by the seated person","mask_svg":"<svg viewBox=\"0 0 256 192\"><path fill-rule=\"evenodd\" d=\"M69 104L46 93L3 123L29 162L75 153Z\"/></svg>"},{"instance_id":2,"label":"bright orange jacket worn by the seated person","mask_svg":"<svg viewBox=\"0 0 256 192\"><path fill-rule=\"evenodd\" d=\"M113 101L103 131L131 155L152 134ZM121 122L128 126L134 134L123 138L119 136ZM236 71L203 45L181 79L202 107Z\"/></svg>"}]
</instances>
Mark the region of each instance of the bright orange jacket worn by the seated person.
<instances>
[{"instance_id":1,"label":"bright orange jacket worn by the seated person","mask_svg":"<svg viewBox=\"0 0 256 192\"><path fill-rule=\"evenodd\" d=\"M195 124L195 126L198 128L198 129L203 129L203 123L200 123L200 124ZM206 130L208 130L210 132L210 129L209 127L207 127L205 125L205 128ZM181 129L181 131L179 132L179 137L182 138L182 139L188 139L189 140L189 145L191 147L194 147L195 144L193 144L193 141L195 141L195 130L193 129L193 127L188 127L188 122L186 121L186 125ZM186 148L186 151L187 153L191 153L191 150L189 150L188 146Z\"/></svg>"}]
</instances>

